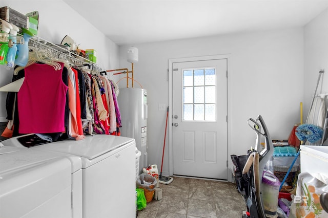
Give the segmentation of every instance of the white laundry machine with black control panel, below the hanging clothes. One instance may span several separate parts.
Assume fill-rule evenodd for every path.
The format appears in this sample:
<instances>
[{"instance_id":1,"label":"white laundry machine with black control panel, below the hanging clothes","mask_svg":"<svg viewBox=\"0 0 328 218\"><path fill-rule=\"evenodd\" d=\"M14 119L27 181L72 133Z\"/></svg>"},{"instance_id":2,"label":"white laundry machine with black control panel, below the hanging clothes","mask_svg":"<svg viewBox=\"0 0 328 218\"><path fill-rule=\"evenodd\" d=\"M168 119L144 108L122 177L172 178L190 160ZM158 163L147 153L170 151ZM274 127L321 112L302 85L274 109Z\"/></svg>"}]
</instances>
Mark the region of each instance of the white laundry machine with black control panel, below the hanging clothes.
<instances>
[{"instance_id":1,"label":"white laundry machine with black control panel, below the hanging clothes","mask_svg":"<svg viewBox=\"0 0 328 218\"><path fill-rule=\"evenodd\" d=\"M84 218L135 217L134 139L95 135L78 141L43 143L34 134L3 141L8 146L30 146L30 150L80 157Z\"/></svg>"}]
</instances>

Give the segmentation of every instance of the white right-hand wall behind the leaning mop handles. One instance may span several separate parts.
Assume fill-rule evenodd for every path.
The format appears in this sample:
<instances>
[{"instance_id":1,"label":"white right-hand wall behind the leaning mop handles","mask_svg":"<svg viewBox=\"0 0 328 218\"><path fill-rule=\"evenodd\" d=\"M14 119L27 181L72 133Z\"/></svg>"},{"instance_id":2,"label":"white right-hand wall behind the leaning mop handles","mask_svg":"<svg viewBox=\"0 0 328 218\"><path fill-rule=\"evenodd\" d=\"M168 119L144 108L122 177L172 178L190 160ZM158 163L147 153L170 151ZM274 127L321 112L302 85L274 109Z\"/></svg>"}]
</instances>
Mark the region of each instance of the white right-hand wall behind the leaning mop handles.
<instances>
[{"instance_id":1,"label":"white right-hand wall behind the leaning mop handles","mask_svg":"<svg viewBox=\"0 0 328 218\"><path fill-rule=\"evenodd\" d=\"M323 69L317 94L328 93L328 10L304 27L304 101L308 112L319 71ZM308 114L304 114L304 119Z\"/></svg>"}]
</instances>

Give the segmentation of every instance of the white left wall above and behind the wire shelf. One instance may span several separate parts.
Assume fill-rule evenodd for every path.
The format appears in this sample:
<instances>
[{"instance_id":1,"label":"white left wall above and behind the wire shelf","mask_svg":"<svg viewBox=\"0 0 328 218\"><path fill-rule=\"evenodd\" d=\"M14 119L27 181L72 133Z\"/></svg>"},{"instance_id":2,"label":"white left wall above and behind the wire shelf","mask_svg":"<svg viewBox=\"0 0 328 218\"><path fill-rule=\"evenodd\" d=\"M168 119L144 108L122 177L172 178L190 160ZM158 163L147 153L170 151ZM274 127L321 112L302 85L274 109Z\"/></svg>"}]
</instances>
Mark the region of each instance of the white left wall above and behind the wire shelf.
<instances>
[{"instance_id":1,"label":"white left wall above and behind the wire shelf","mask_svg":"<svg viewBox=\"0 0 328 218\"><path fill-rule=\"evenodd\" d=\"M97 51L97 64L103 70L118 67L118 46L63 1L2 0L0 7L4 6L23 14L38 11L39 37L60 44L69 35L81 49ZM0 86L11 82L12 72L0 66ZM0 93L0 121L6 121L6 96L7 93Z\"/></svg>"}]
</instances>

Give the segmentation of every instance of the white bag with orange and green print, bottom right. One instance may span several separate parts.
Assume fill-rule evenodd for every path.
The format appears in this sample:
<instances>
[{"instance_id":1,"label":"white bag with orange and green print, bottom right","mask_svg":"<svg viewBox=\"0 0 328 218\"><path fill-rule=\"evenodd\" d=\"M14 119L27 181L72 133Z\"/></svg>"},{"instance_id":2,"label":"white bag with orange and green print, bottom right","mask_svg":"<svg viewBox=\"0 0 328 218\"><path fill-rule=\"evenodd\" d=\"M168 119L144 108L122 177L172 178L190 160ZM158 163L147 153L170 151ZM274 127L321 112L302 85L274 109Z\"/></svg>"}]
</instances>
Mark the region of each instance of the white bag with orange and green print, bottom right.
<instances>
[{"instance_id":1,"label":"white bag with orange and green print, bottom right","mask_svg":"<svg viewBox=\"0 0 328 218\"><path fill-rule=\"evenodd\" d=\"M328 217L320 204L320 194L323 192L328 192L327 184L308 172L300 173L289 217Z\"/></svg>"}]
</instances>

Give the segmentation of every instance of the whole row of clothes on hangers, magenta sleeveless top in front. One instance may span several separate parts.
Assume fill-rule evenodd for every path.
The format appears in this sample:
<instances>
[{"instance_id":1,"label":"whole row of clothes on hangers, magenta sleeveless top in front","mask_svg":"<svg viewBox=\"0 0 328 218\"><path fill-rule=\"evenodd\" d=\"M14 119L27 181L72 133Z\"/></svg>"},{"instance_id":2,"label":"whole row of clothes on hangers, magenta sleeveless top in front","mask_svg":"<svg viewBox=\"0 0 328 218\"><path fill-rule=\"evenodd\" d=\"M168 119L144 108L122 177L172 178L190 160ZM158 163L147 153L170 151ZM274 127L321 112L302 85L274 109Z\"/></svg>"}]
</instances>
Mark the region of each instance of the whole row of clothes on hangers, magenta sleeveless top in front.
<instances>
[{"instance_id":1,"label":"whole row of clothes on hangers, magenta sleeveless top in front","mask_svg":"<svg viewBox=\"0 0 328 218\"><path fill-rule=\"evenodd\" d=\"M34 60L13 75L13 82L24 81L18 93L7 95L9 135L3 136L10 136L10 131L12 136L45 134L56 141L80 140L87 134L120 135L117 84L85 66L52 62Z\"/></svg>"}]
</instances>

